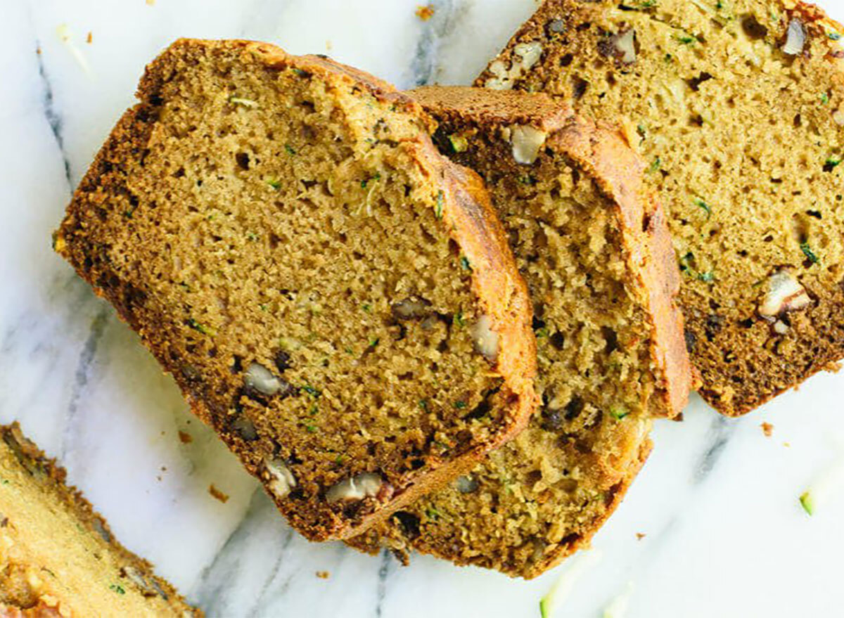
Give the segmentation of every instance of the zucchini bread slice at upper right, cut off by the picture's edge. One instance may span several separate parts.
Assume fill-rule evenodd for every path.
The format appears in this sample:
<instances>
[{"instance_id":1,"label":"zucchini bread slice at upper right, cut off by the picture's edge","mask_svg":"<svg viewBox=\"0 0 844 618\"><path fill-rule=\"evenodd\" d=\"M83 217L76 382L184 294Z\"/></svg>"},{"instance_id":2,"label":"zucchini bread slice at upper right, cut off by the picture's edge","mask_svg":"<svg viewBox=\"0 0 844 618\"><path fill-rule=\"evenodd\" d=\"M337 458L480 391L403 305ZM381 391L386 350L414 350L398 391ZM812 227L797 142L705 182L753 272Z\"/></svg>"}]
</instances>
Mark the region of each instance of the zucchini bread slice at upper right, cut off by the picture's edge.
<instances>
[{"instance_id":1,"label":"zucchini bread slice at upper right, cut off by the picture's edge","mask_svg":"<svg viewBox=\"0 0 844 618\"><path fill-rule=\"evenodd\" d=\"M625 122L725 415L844 356L842 32L805 3L548 0L477 81Z\"/></svg>"}]
</instances>

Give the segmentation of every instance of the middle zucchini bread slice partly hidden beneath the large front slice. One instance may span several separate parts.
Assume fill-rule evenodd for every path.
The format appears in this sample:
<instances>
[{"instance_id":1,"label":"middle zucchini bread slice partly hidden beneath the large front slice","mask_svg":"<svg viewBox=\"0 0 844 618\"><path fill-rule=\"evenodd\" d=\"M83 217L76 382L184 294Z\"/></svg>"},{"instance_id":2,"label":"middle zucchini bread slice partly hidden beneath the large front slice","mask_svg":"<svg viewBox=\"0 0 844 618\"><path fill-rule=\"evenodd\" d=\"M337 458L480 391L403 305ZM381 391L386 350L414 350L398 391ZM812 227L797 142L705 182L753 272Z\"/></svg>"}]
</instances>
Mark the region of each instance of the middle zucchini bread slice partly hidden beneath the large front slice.
<instances>
[{"instance_id":1,"label":"middle zucchini bread slice partly hidden beneath the large front slice","mask_svg":"<svg viewBox=\"0 0 844 618\"><path fill-rule=\"evenodd\" d=\"M545 95L409 93L484 178L533 298L543 407L512 442L354 546L535 577L586 545L690 390L663 211L619 132Z\"/></svg>"}]
</instances>

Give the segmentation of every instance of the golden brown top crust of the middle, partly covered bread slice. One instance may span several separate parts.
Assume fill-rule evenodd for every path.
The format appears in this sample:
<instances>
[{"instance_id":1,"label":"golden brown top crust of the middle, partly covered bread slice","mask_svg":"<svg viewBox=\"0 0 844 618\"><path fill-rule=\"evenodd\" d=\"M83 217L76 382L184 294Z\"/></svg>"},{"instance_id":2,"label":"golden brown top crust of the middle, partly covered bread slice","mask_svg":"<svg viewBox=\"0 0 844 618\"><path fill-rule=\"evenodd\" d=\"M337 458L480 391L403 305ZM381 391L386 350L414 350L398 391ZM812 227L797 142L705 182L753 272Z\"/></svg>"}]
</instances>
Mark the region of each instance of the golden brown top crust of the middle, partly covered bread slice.
<instances>
[{"instance_id":1,"label":"golden brown top crust of the middle, partly covered bread slice","mask_svg":"<svg viewBox=\"0 0 844 618\"><path fill-rule=\"evenodd\" d=\"M549 134L546 144L582 165L618 205L627 233L625 248L650 294L653 363L662 376L663 403L657 414L674 416L688 402L692 371L677 306L679 270L661 204L642 185L645 165L628 148L617 127L576 116L548 95L468 87L423 86L410 91L438 117L471 114L485 125L527 124Z\"/></svg>"}]
</instances>

